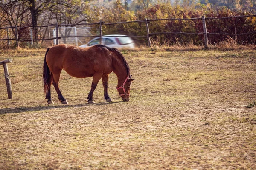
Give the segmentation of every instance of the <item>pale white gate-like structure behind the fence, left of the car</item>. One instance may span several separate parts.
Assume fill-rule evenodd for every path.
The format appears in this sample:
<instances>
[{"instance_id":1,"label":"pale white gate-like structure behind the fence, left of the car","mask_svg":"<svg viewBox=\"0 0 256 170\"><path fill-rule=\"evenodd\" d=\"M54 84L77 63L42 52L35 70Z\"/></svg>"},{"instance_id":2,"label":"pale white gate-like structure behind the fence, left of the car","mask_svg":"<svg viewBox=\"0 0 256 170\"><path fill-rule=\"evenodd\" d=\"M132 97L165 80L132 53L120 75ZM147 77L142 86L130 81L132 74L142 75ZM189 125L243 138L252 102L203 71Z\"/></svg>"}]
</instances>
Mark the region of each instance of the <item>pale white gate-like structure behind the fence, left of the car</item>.
<instances>
[{"instance_id":1,"label":"pale white gate-like structure behind the fence, left of the car","mask_svg":"<svg viewBox=\"0 0 256 170\"><path fill-rule=\"evenodd\" d=\"M79 38L76 36L91 36L90 27L76 28L76 27L59 27L58 28L59 37L58 44L70 44L78 46L79 42L84 44L84 38ZM72 36L72 37L69 37ZM56 37L56 28L53 29L53 37ZM53 40L54 45L56 45L56 40Z\"/></svg>"}]
</instances>

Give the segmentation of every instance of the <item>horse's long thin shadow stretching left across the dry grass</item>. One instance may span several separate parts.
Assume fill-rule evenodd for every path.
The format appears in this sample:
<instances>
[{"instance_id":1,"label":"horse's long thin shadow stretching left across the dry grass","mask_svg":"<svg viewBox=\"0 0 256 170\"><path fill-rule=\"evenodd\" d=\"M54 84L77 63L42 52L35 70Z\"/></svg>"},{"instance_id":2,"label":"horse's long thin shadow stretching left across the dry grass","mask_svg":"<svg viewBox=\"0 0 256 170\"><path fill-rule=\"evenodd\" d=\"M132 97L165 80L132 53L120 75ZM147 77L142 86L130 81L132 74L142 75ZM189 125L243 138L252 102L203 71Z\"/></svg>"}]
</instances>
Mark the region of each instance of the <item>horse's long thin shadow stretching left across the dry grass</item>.
<instances>
[{"instance_id":1,"label":"horse's long thin shadow stretching left across the dry grass","mask_svg":"<svg viewBox=\"0 0 256 170\"><path fill-rule=\"evenodd\" d=\"M121 101L119 101L121 102ZM23 113L28 111L43 111L43 110L49 110L49 109L55 109L55 108L72 108L72 107L87 107L87 106L93 106L93 105L111 105L114 103L119 102L99 102L95 104L77 104L77 105L62 105L62 104L53 104L53 105L39 105L39 106L32 106L32 107L13 107L13 108L3 108L0 109L0 115L2 114L10 114L10 113Z\"/></svg>"}]
</instances>

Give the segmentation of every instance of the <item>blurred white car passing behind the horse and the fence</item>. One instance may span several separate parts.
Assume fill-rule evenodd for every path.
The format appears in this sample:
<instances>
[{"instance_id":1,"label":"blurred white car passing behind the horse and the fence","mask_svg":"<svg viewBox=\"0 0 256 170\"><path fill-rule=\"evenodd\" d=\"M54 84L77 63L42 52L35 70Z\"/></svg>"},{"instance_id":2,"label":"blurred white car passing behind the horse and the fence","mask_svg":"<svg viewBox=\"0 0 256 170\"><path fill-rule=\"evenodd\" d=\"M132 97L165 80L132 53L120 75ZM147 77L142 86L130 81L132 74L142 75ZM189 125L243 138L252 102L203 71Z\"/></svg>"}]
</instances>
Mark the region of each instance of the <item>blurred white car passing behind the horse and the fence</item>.
<instances>
[{"instance_id":1,"label":"blurred white car passing behind the horse and the fence","mask_svg":"<svg viewBox=\"0 0 256 170\"><path fill-rule=\"evenodd\" d=\"M89 47L97 44L100 44L99 38L93 38L88 44L79 47ZM102 36L102 44L111 48L134 48L134 41L126 35L104 35Z\"/></svg>"}]
</instances>

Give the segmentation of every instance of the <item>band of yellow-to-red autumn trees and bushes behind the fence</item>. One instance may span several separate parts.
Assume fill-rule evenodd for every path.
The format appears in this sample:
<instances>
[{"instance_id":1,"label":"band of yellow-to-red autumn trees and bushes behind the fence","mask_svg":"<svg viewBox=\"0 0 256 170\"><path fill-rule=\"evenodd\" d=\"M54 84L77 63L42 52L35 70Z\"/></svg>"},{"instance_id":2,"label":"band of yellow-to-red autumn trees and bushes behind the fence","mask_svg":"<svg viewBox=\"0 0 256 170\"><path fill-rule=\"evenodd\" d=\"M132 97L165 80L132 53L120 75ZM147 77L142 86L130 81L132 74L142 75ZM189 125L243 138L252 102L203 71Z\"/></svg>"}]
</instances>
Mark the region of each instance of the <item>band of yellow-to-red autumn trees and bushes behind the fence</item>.
<instances>
[{"instance_id":1,"label":"band of yellow-to-red autumn trees and bushes behind the fence","mask_svg":"<svg viewBox=\"0 0 256 170\"><path fill-rule=\"evenodd\" d=\"M120 0L116 0L110 6L98 6L92 5L89 2L82 0L60 0L61 3L45 3L44 8L41 9L41 15L38 15L38 26L44 26L49 24L70 24L66 27L86 27L87 25L78 25L83 23L95 23L102 20L104 23L116 23L140 20L144 21L154 19L166 19L166 18L178 18L178 19L191 19L198 18L197 20L159 20L151 21L149 26L150 33L202 33L203 24L201 17L204 15L206 20L208 33L220 33L218 35L208 34L208 42L210 44L219 44L221 42L232 42L237 44L256 44L256 17L233 17L226 19L219 19L223 17L232 16L249 16L255 15L254 8L227 8L226 6L213 6L210 3L189 3L189 0L184 1L182 4L173 4L158 2L155 4L148 4L147 6L139 6L137 3L143 0L134 1L133 9L129 9L127 4L121 3ZM20 3L20 1L17 1ZM44 0L35 1L35 3L44 2ZM47 1L48 2L48 1ZM16 4L20 7L19 4ZM40 5L40 4L39 4ZM252 5L253 6L253 5ZM26 7L26 6L25 6ZM254 7L254 6L253 6ZM17 7L13 7L14 11ZM1 11L2 10L2 11ZM15 13L15 12L14 12ZM25 11L27 17L13 18L17 19L16 23L12 23L12 20L8 20L8 13L0 9L0 27L7 26L20 26L19 38L29 39L29 29L24 26L31 26L29 10ZM13 16L16 16L13 15ZM210 19L212 18L212 19ZM99 35L99 24L92 25L91 31L94 35ZM0 37L6 38L6 30L0 30ZM12 38L15 38L14 29L12 32ZM34 30L38 35L38 38L45 38L48 36L48 30L41 29L40 31ZM248 32L254 32L252 34L246 34ZM224 35L228 34L244 34L244 35ZM145 23L125 23L115 25L103 25L102 35L107 34L125 34L130 36L145 36L146 25ZM134 38L138 44L147 44L146 38ZM203 45L203 34L158 34L152 35L151 40L157 45L172 45L172 44L194 44ZM0 46L6 43L0 41ZM40 42L38 42L40 43Z\"/></svg>"}]
</instances>

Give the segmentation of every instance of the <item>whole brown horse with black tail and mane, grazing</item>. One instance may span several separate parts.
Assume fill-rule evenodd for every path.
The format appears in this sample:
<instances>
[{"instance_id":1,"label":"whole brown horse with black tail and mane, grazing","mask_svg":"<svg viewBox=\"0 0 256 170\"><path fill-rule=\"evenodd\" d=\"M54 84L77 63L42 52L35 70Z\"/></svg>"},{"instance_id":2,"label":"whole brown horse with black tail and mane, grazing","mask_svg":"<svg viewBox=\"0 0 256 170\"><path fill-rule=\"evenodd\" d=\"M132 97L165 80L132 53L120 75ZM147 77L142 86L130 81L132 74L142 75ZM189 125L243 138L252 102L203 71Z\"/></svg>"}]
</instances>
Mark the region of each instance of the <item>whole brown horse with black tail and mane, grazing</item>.
<instances>
[{"instance_id":1,"label":"whole brown horse with black tail and mane, grazing","mask_svg":"<svg viewBox=\"0 0 256 170\"><path fill-rule=\"evenodd\" d=\"M92 77L91 90L87 97L88 103L93 101L93 91L102 78L104 98L107 102L113 102L108 95L108 75L113 71L118 79L117 91L123 101L129 101L130 86L134 80L130 75L130 68L124 56L116 48L108 48L105 45L94 45L88 48L80 48L73 45L55 45L48 48L44 58L44 93L48 104L53 103L51 98L51 85L53 84L58 99L63 104L67 100L62 96L59 89L61 70L77 78Z\"/></svg>"}]
</instances>

